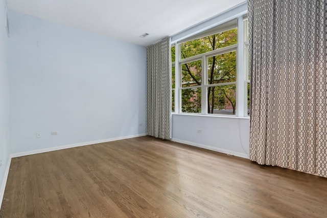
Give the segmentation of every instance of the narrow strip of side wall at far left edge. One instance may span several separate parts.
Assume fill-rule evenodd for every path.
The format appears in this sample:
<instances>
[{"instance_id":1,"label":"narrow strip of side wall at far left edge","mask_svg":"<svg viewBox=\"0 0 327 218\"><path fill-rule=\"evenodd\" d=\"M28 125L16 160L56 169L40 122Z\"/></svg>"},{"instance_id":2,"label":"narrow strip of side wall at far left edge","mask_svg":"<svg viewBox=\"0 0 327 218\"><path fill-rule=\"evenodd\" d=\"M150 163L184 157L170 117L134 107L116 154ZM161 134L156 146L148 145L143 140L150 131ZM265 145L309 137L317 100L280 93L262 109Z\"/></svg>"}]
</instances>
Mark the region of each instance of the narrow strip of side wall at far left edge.
<instances>
[{"instance_id":1,"label":"narrow strip of side wall at far left edge","mask_svg":"<svg viewBox=\"0 0 327 218\"><path fill-rule=\"evenodd\" d=\"M5 171L9 160L9 80L7 69L7 32L5 30L5 1L0 0L0 206L4 191Z\"/></svg>"}]
</instances>

